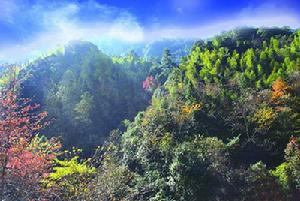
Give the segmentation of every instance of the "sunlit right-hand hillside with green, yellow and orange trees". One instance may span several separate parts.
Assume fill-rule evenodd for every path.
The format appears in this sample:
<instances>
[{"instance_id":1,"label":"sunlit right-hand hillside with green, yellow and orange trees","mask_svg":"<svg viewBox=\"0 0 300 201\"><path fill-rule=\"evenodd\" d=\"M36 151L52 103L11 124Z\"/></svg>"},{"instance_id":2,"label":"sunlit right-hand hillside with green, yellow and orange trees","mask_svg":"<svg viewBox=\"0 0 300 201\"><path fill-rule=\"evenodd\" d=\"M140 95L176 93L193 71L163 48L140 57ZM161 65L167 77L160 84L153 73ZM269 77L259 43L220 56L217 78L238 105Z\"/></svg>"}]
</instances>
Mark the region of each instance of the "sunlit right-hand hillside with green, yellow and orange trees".
<instances>
[{"instance_id":1,"label":"sunlit right-hand hillside with green, yellow and orange trees","mask_svg":"<svg viewBox=\"0 0 300 201\"><path fill-rule=\"evenodd\" d=\"M102 148L91 197L298 200L299 47L287 29L195 44Z\"/></svg>"}]
</instances>

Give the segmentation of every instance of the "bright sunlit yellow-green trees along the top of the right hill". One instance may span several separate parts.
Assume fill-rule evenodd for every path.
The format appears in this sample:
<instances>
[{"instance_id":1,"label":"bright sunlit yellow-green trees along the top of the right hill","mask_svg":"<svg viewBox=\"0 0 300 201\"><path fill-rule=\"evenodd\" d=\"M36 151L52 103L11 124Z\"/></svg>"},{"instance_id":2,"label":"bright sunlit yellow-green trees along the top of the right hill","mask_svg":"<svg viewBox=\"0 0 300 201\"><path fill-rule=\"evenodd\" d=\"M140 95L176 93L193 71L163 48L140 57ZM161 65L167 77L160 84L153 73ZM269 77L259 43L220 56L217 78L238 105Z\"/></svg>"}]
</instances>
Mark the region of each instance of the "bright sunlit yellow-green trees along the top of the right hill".
<instances>
[{"instance_id":1,"label":"bright sunlit yellow-green trees along the top of the right hill","mask_svg":"<svg viewBox=\"0 0 300 201\"><path fill-rule=\"evenodd\" d=\"M299 51L297 52L294 48L294 43L299 40L296 34L294 38L291 33L268 38L262 36L272 30L247 31L253 35L252 38L251 36L244 38L244 42L238 39L244 36L239 36L241 33L237 30L236 33L229 32L229 36L224 34L220 38L213 39L213 48L209 45L194 47L188 56L187 65L182 65L186 76L194 84L197 72L206 83L230 82L232 78L239 76L243 78L240 80L243 86L261 89L270 86L277 78L286 76L290 72L289 69L295 70L295 67L299 66L297 59ZM257 33L254 33L255 31ZM234 38L230 39L231 34ZM263 43L261 43L262 40ZM289 43L289 40L293 42ZM233 44L230 44L232 42ZM238 45L241 43L245 44L245 47ZM292 50L293 54L290 53ZM262 80L259 83L255 83L260 79Z\"/></svg>"}]
</instances>

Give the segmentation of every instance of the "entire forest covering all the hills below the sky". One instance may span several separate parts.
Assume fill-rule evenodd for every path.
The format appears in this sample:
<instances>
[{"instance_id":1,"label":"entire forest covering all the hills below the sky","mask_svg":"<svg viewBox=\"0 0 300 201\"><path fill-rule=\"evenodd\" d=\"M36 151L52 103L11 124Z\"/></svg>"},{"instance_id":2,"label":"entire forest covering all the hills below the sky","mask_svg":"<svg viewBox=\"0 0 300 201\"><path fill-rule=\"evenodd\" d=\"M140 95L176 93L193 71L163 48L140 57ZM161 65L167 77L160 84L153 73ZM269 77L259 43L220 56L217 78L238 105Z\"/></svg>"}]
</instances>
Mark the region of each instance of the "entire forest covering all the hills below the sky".
<instances>
[{"instance_id":1,"label":"entire forest covering all the hills below the sky","mask_svg":"<svg viewBox=\"0 0 300 201\"><path fill-rule=\"evenodd\" d=\"M143 48L3 65L0 200L299 201L300 30Z\"/></svg>"}]
</instances>

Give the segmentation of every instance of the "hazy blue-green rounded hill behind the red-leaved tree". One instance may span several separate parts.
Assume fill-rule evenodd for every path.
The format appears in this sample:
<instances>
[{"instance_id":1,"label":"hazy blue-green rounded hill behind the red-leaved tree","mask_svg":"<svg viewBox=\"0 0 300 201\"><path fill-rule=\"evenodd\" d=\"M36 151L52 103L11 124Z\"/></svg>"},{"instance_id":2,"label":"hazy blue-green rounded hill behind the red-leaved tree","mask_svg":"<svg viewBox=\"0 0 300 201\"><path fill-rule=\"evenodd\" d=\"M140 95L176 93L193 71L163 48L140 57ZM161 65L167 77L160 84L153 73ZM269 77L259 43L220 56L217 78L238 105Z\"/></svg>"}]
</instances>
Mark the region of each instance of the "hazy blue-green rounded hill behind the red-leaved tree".
<instances>
[{"instance_id":1,"label":"hazy blue-green rounded hill behind the red-leaved tree","mask_svg":"<svg viewBox=\"0 0 300 201\"><path fill-rule=\"evenodd\" d=\"M21 96L48 111L51 126L43 134L61 136L65 147L91 153L112 129L148 105L142 80L150 66L140 58L114 63L96 45L77 41L24 67Z\"/></svg>"}]
</instances>

